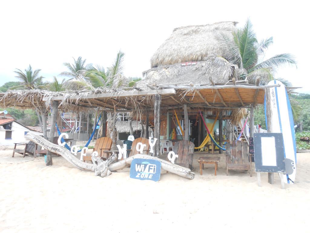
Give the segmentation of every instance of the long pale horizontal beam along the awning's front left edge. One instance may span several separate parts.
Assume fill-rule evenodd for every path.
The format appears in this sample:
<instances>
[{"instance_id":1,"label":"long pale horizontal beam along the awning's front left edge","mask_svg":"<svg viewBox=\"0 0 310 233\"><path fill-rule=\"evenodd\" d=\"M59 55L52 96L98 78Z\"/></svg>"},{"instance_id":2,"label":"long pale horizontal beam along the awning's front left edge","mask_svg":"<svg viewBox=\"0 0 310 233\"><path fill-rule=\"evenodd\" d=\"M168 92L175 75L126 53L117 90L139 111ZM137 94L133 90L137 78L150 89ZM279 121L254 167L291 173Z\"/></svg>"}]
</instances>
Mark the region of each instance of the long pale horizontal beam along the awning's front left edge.
<instances>
[{"instance_id":1,"label":"long pale horizontal beam along the awning's front left edge","mask_svg":"<svg viewBox=\"0 0 310 233\"><path fill-rule=\"evenodd\" d=\"M85 96L74 95L70 96L68 100L75 99L97 99L97 98L120 98L120 97L135 97L135 96L151 96L151 95L170 95L175 94L175 89L158 89L158 90L144 90L144 91L123 91L123 92L112 92L112 93L100 93L100 94L88 94ZM48 97L44 97L43 101L46 101ZM63 96L54 96L51 101L57 100L62 101Z\"/></svg>"}]
</instances>

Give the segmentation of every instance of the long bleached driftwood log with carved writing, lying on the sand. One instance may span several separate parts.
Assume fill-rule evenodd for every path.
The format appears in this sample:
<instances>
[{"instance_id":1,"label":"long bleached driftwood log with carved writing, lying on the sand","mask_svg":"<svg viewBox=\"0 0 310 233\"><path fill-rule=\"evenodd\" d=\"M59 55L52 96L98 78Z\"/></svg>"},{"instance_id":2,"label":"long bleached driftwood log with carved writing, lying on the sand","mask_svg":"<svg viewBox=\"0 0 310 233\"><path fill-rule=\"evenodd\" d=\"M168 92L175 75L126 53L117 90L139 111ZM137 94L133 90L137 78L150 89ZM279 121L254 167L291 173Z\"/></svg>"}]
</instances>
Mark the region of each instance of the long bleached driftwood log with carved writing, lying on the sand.
<instances>
[{"instance_id":1,"label":"long bleached driftwood log with carved writing, lying on the sand","mask_svg":"<svg viewBox=\"0 0 310 233\"><path fill-rule=\"evenodd\" d=\"M86 162L79 160L77 157L75 157L74 154L72 154L66 148L61 147L61 146L56 145L56 144L53 144L53 143L49 142L48 140L46 140L46 139L44 139L38 135L35 135L33 133L29 132L27 135L25 135L25 138L27 140L33 141L34 143L38 144L39 146L41 146L41 147L43 147L43 148L45 148L51 152L54 152L54 153L61 155L68 162L70 162L75 167L77 167L83 171L94 171L95 176L98 176L98 175L100 175L101 177L109 176L112 171L117 171L117 170L121 170L125 167L129 167L133 159L145 158L145 159L154 159L154 160L161 162L162 169L169 171L171 173L174 173L176 175L183 176L183 177L190 179L190 180L193 180L195 177L195 173L192 172L188 168L181 167L181 166L178 166L178 165L173 164L171 162L167 162L163 159L152 157L152 156L146 155L146 154L136 154L136 155L133 155L129 158L126 158L120 162L116 162L117 156L114 153L106 161L103 161L102 159L97 158L97 157L92 155L93 164L91 164L91 163L86 163Z\"/></svg>"}]
</instances>

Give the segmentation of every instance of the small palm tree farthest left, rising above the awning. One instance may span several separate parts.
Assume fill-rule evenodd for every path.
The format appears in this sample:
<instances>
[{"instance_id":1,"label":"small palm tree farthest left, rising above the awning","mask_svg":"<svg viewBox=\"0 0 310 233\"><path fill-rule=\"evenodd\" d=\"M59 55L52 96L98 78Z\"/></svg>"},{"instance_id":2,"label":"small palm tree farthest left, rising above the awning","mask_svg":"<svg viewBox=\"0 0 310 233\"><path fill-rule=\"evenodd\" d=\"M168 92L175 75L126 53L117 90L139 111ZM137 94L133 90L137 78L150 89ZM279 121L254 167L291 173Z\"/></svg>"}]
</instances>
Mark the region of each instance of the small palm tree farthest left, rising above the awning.
<instances>
[{"instance_id":1,"label":"small palm tree farthest left, rising above the awning","mask_svg":"<svg viewBox=\"0 0 310 233\"><path fill-rule=\"evenodd\" d=\"M30 65L28 69L25 69L25 72L20 69L16 70L17 71L14 71L14 73L17 74L15 77L22 82L22 85L11 87L11 89L19 89L21 87L24 87L25 89L35 89L42 83L42 79L44 78L39 76L40 69L33 71Z\"/></svg>"}]
</instances>

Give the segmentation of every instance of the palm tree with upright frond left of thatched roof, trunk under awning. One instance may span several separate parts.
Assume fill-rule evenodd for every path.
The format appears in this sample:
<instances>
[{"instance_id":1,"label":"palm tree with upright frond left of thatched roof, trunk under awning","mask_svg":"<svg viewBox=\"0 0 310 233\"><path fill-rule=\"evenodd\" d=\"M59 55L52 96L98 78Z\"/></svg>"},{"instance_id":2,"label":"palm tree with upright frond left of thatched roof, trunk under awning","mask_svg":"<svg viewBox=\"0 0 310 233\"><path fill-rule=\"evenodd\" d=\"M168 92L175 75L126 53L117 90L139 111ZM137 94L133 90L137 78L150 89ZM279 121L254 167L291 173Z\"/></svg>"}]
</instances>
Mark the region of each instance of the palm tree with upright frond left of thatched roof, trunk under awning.
<instances>
[{"instance_id":1,"label":"palm tree with upright frond left of thatched roof, trunk under awning","mask_svg":"<svg viewBox=\"0 0 310 233\"><path fill-rule=\"evenodd\" d=\"M78 75L77 77L68 80L67 86L71 89L84 90L94 90L98 88L122 90L128 88L128 79L123 75L123 58L124 53L119 51L112 66L108 67L107 70L101 66L91 66L83 72L84 77ZM108 113L107 122L110 138L113 142L112 149L117 149L116 119L116 113Z\"/></svg>"}]
</instances>

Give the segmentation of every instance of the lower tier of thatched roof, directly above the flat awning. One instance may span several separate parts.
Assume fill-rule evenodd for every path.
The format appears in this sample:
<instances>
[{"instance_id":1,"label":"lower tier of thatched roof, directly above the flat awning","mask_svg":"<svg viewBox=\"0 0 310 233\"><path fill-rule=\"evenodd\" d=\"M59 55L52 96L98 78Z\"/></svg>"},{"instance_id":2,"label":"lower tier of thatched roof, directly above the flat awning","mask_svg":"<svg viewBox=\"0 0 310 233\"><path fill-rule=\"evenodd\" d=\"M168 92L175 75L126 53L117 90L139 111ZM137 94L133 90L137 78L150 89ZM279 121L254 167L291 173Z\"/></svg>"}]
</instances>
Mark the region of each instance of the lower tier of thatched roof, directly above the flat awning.
<instances>
[{"instance_id":1,"label":"lower tier of thatched roof, directly above the flat awning","mask_svg":"<svg viewBox=\"0 0 310 233\"><path fill-rule=\"evenodd\" d=\"M175 84L192 82L202 85L210 83L226 83L232 78L238 80L242 70L232 63L219 57L209 56L206 61L178 63L161 66L143 72L144 79L137 82L135 87L155 86L162 84Z\"/></svg>"}]
</instances>

